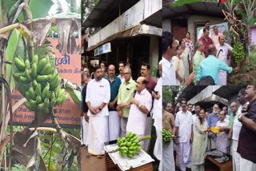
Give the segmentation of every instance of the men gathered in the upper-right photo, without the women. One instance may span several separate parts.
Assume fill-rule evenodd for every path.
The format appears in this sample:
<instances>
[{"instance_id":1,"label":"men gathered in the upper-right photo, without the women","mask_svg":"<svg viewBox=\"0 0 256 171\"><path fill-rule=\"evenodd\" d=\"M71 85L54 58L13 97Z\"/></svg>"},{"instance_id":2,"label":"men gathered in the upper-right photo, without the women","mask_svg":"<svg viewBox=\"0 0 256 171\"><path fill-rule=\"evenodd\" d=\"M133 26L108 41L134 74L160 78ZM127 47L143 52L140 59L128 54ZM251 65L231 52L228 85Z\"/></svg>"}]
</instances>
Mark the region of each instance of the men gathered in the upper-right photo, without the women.
<instances>
[{"instance_id":1,"label":"men gathered in the upper-right photo, without the women","mask_svg":"<svg viewBox=\"0 0 256 171\"><path fill-rule=\"evenodd\" d=\"M196 85L226 85L227 74L236 72L238 67L229 66L230 54L233 48L226 43L223 34L218 32L218 26L214 26L214 34L210 38L210 24L200 30L198 41L195 44L196 52L193 62L193 72L186 79L184 85L190 85L194 81ZM164 85L176 85L175 66L172 58L177 54L177 43L170 32L162 34L162 60ZM188 70L188 69L186 69Z\"/></svg>"}]
</instances>

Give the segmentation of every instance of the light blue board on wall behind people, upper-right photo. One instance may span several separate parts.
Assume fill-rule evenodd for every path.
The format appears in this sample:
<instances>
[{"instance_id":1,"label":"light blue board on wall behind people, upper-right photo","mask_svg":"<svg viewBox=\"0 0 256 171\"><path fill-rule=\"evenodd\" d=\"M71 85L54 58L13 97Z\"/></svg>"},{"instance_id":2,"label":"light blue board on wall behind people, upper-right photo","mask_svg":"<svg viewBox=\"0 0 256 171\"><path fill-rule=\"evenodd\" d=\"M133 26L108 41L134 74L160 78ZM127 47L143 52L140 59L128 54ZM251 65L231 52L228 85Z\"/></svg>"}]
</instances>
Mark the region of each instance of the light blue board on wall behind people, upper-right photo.
<instances>
[{"instance_id":1,"label":"light blue board on wall behind people, upper-right photo","mask_svg":"<svg viewBox=\"0 0 256 171\"><path fill-rule=\"evenodd\" d=\"M210 26L210 30L209 30L210 34L209 35L214 34L214 26L218 26L218 32L222 33L226 38L226 43L230 44L230 31L229 31L229 26L227 25L227 22L222 22L220 24L214 24L214 25ZM199 31L203 28L204 28L203 26L197 28L197 38L198 38Z\"/></svg>"}]
</instances>

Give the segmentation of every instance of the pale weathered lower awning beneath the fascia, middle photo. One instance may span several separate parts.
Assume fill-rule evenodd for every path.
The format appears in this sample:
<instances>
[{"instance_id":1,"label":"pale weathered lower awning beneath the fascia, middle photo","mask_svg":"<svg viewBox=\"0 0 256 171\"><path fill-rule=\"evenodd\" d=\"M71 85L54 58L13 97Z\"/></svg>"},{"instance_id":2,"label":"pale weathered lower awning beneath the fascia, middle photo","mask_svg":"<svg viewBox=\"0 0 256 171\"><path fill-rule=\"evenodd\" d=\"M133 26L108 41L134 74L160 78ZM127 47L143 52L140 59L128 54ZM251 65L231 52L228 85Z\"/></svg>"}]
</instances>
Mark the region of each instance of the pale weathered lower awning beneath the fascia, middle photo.
<instances>
[{"instance_id":1,"label":"pale weathered lower awning beneath the fascia, middle photo","mask_svg":"<svg viewBox=\"0 0 256 171\"><path fill-rule=\"evenodd\" d=\"M119 32L118 34L113 34L110 37L106 38L105 40L98 42L95 46L90 46L90 48L87 49L87 51L94 50L98 46L101 46L102 44L106 42L110 42L117 38L132 38L140 35L154 35L154 36L162 36L162 29L155 27L155 26L147 26L145 24L134 26L133 28L130 28L129 30Z\"/></svg>"}]
</instances>

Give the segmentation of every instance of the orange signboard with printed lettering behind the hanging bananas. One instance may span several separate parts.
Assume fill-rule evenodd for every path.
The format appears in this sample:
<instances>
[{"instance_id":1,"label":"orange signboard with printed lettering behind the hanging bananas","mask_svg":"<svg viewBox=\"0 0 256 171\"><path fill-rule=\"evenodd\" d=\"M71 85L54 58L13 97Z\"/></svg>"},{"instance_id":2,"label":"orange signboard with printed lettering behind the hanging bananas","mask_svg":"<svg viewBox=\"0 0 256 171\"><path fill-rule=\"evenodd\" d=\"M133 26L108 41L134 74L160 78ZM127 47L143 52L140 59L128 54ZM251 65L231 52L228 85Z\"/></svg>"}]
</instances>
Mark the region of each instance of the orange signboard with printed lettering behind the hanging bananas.
<instances>
[{"instance_id":1,"label":"orange signboard with printed lettering behind the hanging bananas","mask_svg":"<svg viewBox=\"0 0 256 171\"><path fill-rule=\"evenodd\" d=\"M58 39L48 38L48 40L54 47L54 54L56 56L55 67L57 68L60 77L67 79L70 82L75 83L77 85L81 85L81 55L72 54L63 56L56 49L56 46L58 45ZM22 95L18 92L17 89L14 88L14 91L12 93L12 105L14 105L20 99L22 99ZM72 100L69 94L66 101L61 106L56 106L54 109L57 109L57 120L58 123L62 125L62 127L80 127L80 108ZM14 124L16 125L29 125L30 122L33 120L34 112L31 112L29 109L26 109L25 103L19 106L16 111L14 111ZM45 125L50 123L50 119L44 122Z\"/></svg>"}]
</instances>

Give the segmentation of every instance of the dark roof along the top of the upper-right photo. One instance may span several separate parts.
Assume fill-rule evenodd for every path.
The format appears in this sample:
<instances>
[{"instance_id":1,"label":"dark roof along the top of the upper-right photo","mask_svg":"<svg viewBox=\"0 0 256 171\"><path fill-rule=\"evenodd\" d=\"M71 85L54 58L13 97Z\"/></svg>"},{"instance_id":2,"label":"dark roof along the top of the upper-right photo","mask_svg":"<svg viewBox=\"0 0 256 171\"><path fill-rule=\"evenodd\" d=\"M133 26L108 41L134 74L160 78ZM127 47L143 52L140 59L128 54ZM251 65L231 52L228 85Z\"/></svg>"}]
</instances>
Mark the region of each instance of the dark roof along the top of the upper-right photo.
<instances>
[{"instance_id":1,"label":"dark roof along the top of the upper-right photo","mask_svg":"<svg viewBox=\"0 0 256 171\"><path fill-rule=\"evenodd\" d=\"M171 2L171 1L170 1ZM222 10L226 10L224 4L218 6L218 2L194 2L185 6L170 6L171 3L166 1L166 5L162 7L162 18L179 18L186 17L191 14L212 15L214 17L223 17Z\"/></svg>"}]
</instances>

